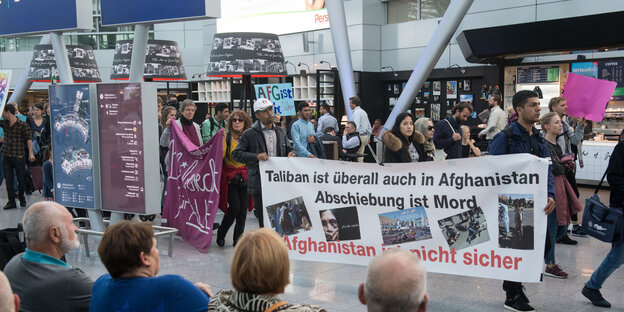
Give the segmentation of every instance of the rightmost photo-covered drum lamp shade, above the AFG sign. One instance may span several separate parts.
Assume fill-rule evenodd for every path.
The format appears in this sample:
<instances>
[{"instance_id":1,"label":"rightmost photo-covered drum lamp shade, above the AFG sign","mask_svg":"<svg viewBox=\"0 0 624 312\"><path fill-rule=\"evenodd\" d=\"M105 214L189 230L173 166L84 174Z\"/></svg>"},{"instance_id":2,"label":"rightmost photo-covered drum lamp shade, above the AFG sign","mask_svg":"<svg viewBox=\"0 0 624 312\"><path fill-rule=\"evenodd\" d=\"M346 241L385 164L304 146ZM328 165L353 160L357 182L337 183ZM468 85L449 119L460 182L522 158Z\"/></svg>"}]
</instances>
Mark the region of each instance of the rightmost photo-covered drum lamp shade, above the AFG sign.
<instances>
[{"instance_id":1,"label":"rightmost photo-covered drum lamp shade, above the AFG sign","mask_svg":"<svg viewBox=\"0 0 624 312\"><path fill-rule=\"evenodd\" d=\"M282 77L286 76L279 37L267 33L215 34L208 76Z\"/></svg>"}]
</instances>

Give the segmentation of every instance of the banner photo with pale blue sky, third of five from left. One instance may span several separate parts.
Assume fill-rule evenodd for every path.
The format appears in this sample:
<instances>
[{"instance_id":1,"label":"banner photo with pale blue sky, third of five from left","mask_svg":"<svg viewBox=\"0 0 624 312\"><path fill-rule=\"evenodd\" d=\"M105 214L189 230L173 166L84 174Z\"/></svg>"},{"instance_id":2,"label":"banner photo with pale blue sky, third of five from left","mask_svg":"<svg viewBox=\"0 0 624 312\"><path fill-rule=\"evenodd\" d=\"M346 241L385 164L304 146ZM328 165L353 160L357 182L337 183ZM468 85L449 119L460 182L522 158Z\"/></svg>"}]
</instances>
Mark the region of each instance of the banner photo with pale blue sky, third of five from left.
<instances>
[{"instance_id":1,"label":"banner photo with pale blue sky, third of five from left","mask_svg":"<svg viewBox=\"0 0 624 312\"><path fill-rule=\"evenodd\" d=\"M424 207L379 214L379 225L386 246L432 238Z\"/></svg>"}]
</instances>

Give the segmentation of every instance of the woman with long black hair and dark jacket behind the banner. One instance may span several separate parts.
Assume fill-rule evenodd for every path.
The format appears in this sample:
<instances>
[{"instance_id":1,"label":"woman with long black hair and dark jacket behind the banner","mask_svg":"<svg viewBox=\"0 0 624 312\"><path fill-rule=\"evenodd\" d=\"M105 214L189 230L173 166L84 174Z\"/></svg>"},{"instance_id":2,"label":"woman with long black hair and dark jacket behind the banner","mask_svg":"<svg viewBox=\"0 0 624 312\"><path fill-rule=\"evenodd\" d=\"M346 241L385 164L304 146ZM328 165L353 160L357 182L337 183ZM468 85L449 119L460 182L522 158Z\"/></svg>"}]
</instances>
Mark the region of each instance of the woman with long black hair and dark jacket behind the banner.
<instances>
[{"instance_id":1,"label":"woman with long black hair and dark jacket behind the banner","mask_svg":"<svg viewBox=\"0 0 624 312\"><path fill-rule=\"evenodd\" d=\"M385 162L387 163L429 160L423 145L425 136L414 130L414 118L411 114L399 114L392 130L384 132L382 140L386 145Z\"/></svg>"}]
</instances>

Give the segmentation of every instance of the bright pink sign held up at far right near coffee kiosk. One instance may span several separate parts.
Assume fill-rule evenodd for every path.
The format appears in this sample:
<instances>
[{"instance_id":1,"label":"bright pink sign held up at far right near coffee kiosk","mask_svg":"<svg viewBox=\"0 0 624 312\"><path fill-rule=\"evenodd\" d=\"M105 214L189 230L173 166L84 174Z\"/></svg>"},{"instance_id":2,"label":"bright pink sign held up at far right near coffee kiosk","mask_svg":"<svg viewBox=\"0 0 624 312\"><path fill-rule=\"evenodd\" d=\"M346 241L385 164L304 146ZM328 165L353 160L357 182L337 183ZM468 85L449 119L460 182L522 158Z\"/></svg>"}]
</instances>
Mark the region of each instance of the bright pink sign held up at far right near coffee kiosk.
<instances>
[{"instance_id":1,"label":"bright pink sign held up at far right near coffee kiosk","mask_svg":"<svg viewBox=\"0 0 624 312\"><path fill-rule=\"evenodd\" d=\"M568 115L601 122L616 85L613 81L569 73L562 95Z\"/></svg>"}]
</instances>

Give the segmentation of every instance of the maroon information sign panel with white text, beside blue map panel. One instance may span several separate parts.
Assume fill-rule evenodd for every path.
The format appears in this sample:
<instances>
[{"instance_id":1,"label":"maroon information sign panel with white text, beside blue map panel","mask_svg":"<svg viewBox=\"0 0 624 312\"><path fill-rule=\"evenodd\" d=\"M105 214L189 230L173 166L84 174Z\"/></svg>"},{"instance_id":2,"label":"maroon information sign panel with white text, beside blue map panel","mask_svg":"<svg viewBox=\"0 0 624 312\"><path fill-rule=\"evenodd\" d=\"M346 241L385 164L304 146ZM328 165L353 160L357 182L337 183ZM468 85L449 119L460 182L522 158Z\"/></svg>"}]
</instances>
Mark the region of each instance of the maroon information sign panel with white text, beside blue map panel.
<instances>
[{"instance_id":1,"label":"maroon information sign panel with white text, beside blue map panel","mask_svg":"<svg viewBox=\"0 0 624 312\"><path fill-rule=\"evenodd\" d=\"M102 209L144 214L141 84L98 84Z\"/></svg>"}]
</instances>

